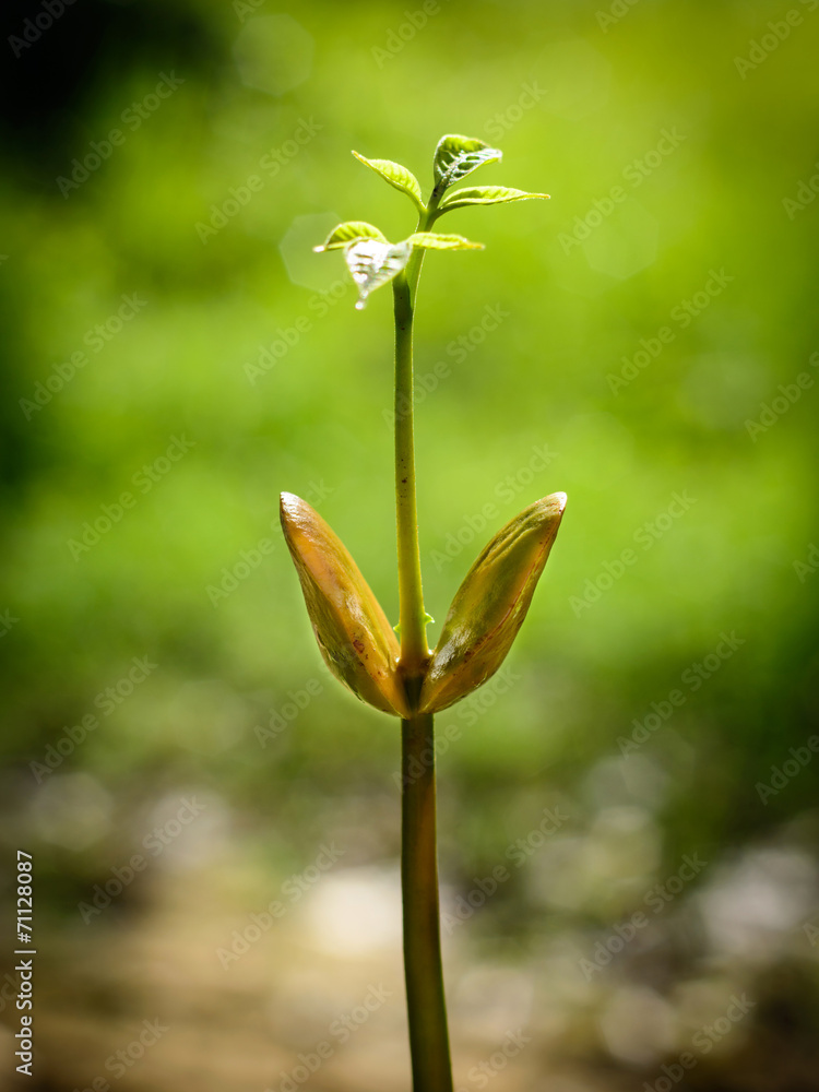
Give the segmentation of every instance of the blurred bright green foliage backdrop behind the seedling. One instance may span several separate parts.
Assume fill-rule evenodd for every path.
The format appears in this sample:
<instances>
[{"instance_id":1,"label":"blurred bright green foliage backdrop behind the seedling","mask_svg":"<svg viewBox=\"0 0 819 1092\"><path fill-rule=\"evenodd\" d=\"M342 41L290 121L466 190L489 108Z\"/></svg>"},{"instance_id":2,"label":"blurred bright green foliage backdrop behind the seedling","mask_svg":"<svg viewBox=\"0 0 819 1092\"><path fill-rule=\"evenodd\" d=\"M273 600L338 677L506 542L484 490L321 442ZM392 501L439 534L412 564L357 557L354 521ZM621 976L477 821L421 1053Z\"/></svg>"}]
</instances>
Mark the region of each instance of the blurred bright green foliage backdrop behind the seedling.
<instances>
[{"instance_id":1,"label":"blurred bright green foliage backdrop behind the seedling","mask_svg":"<svg viewBox=\"0 0 819 1092\"><path fill-rule=\"evenodd\" d=\"M817 211L790 219L782 199L815 169L819 16L743 80L734 57L764 32L762 5L639 4L609 33L593 3L551 9L487 0L466 17L442 5L379 68L373 47L401 4L310 0L289 25L268 5L242 23L215 0L97 2L67 10L13 62L25 93L7 102L2 130L0 608L19 620L0 640L4 784L21 831L40 814L28 763L100 713L96 696L134 656L158 665L60 768L104 786L108 819L92 824L96 843L68 828L46 841L63 877L58 912L74 913L64 878L107 866L144 802L178 785L218 794L248 845L266 846L265 867L272 856L283 869L355 802L370 803L353 807L354 829L375 802L379 815L397 808L395 726L322 670L276 508L282 489L316 503L396 618L390 297L356 312L341 257L309 247L336 218L405 237L406 201L349 150L429 186L441 132L502 147L482 182L551 201L479 225L454 213L447 229L486 250L425 259L417 373L446 365L417 413L434 639L491 533L539 496L569 495L510 657L515 681L467 709L474 723L440 719L462 729L440 761L444 873L468 882L491 867L544 804L566 800L577 835L601 809L631 808L656 844L646 835L624 865L627 895L604 900L601 874L574 904L608 923L662 860L716 856L815 807L814 768L764 807L755 786L816 731L819 574L800 581L793 566L817 542L816 387L763 435L746 422L779 384L817 375ZM63 82L49 87L58 57ZM259 71L287 90L259 90ZM183 83L129 129L123 111L169 72ZM116 128L124 142L63 197L57 177ZM664 130L685 139L657 158ZM653 166L629 173L634 161ZM213 206L224 226L202 241ZM285 237L298 245L280 251ZM712 271L733 280L675 319ZM144 306L95 352L94 328L133 295ZM480 325L487 307L508 312L497 331ZM673 341L613 393L608 377L662 327ZM20 400L75 352L85 366L26 419ZM166 471L181 437L192 447ZM544 444L553 454L532 471ZM126 491L133 506L72 556L70 541ZM636 543L675 494L695 502L650 548ZM487 502L486 526L452 547ZM629 548L636 562L572 609ZM242 551L247 577L214 603L209 587L228 586ZM681 686L723 632L741 648L696 691ZM311 679L321 693L287 719L289 692ZM618 737L675 688L685 704L620 763ZM276 716L285 726L262 748L254 728ZM122 816L134 826L120 845ZM396 853L397 826L366 844ZM526 919L524 888L515 877L503 892L514 912L502 900L492 911L503 931Z\"/></svg>"}]
</instances>

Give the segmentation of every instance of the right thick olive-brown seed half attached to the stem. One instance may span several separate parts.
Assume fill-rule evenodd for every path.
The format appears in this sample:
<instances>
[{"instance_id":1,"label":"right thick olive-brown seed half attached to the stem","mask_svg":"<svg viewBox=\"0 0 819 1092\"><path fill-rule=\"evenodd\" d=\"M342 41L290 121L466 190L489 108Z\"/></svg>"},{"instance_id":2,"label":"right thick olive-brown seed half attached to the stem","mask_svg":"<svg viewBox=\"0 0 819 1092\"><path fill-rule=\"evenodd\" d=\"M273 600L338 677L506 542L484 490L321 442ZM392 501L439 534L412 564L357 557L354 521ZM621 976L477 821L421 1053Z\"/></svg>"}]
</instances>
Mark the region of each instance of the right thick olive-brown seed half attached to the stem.
<instances>
[{"instance_id":1,"label":"right thick olive-brown seed half attached to the stem","mask_svg":"<svg viewBox=\"0 0 819 1092\"><path fill-rule=\"evenodd\" d=\"M500 667L526 616L565 507L565 492L530 505L466 573L424 679L422 713L447 709Z\"/></svg>"}]
</instances>

